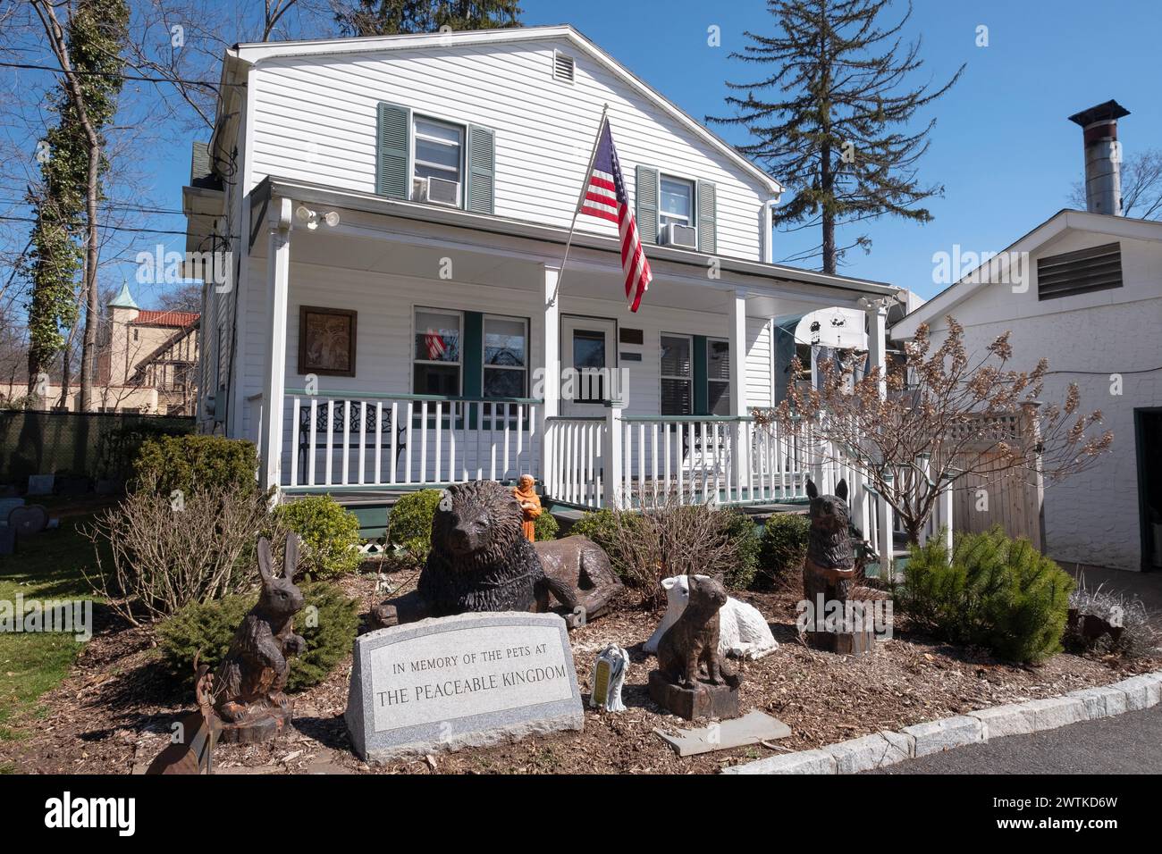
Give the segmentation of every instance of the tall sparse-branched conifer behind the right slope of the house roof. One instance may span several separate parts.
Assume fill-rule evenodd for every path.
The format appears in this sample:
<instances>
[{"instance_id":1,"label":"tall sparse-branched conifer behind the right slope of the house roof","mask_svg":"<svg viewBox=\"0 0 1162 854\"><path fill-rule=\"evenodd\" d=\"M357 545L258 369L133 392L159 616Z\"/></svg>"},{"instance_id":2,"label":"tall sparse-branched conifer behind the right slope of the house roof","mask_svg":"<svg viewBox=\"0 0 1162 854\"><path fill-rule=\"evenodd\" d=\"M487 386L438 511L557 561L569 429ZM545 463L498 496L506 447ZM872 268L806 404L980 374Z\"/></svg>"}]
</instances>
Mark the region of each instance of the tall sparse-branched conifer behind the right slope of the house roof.
<instances>
[{"instance_id":1,"label":"tall sparse-branched conifer behind the right slope of the house roof","mask_svg":"<svg viewBox=\"0 0 1162 854\"><path fill-rule=\"evenodd\" d=\"M905 130L916 112L952 87L964 70L939 88L908 86L923 60L920 42L904 44L901 30L912 14L881 24L891 0L768 0L780 33L747 31L751 41L731 56L769 74L727 82L741 95L726 102L736 115L711 119L740 124L755 142L739 150L782 181L794 198L774 211L776 225L822 227L823 270L834 273L844 250L835 225L894 214L918 222L932 215L918 202L944 192L917 179L935 120ZM847 246L867 249L860 236Z\"/></svg>"}]
</instances>

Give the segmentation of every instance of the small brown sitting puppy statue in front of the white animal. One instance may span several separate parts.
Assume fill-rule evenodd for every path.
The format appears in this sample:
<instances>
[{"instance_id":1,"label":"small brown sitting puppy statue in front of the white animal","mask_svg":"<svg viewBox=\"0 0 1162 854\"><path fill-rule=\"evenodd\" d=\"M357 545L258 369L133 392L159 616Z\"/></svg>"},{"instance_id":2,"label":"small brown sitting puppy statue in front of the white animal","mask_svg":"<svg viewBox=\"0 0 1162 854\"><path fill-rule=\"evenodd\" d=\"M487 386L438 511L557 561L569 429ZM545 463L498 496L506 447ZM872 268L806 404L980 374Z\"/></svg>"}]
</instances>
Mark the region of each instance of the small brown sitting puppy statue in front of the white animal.
<instances>
[{"instance_id":1,"label":"small brown sitting puppy statue in front of the white animal","mask_svg":"<svg viewBox=\"0 0 1162 854\"><path fill-rule=\"evenodd\" d=\"M723 576L689 576L690 601L658 643L658 669L669 682L693 688L705 667L705 680L725 684L733 673L718 652L718 612L726 604Z\"/></svg>"}]
</instances>

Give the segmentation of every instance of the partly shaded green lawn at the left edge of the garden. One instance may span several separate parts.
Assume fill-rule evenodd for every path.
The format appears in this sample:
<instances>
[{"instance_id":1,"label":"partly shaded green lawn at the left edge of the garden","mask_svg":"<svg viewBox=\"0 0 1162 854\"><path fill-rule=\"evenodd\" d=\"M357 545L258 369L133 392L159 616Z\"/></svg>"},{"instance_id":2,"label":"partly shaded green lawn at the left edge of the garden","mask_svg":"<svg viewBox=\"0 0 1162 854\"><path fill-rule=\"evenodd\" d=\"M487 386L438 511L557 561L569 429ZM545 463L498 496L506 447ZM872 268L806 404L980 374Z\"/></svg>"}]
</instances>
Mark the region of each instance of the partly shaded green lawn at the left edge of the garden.
<instances>
[{"instance_id":1,"label":"partly shaded green lawn at the left edge of the garden","mask_svg":"<svg viewBox=\"0 0 1162 854\"><path fill-rule=\"evenodd\" d=\"M80 567L92 564L93 546L77 530L89 517L69 517L0 558L0 600L94 598ZM72 634L0 633L0 739L20 738L21 726L41 712L36 701L67 675L81 650ZM2 772L2 769L0 769Z\"/></svg>"}]
</instances>

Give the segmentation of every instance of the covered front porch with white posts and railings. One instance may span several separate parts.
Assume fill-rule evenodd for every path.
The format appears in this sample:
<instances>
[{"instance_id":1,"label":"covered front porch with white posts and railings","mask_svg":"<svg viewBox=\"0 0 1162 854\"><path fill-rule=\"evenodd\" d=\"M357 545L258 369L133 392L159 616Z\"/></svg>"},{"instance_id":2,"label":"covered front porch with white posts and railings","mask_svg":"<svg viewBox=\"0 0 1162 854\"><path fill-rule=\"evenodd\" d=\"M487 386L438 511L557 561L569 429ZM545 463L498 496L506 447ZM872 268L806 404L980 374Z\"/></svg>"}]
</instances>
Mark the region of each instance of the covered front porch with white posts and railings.
<instances>
[{"instance_id":1,"label":"covered front porch with white posts and railings","mask_svg":"<svg viewBox=\"0 0 1162 854\"><path fill-rule=\"evenodd\" d=\"M239 346L265 364L245 366L229 430L258 444L261 480L280 496L386 501L530 474L550 502L579 510L661 496L761 507L805 501L808 478L822 490L846 478L865 538L891 547L890 508L841 455L751 415L775 402L775 317L867 311L883 364L885 309L860 300L885 286L659 246L631 315L616 239L579 235L562 271L558 229L502 232L464 211L279 192L272 184L267 239L243 282ZM346 375L303 369L304 307L358 313Z\"/></svg>"}]
</instances>

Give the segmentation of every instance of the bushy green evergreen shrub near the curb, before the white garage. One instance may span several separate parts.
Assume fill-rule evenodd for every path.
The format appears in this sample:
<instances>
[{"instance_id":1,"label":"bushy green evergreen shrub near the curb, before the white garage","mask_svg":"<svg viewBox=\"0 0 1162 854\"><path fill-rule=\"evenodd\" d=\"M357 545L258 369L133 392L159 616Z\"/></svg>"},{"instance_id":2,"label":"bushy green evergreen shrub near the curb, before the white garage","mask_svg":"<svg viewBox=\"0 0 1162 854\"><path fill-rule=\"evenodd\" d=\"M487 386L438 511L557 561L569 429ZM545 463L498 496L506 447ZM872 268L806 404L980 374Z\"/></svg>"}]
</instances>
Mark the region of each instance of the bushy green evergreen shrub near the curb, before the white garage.
<instances>
[{"instance_id":1,"label":"bushy green evergreen shrub near the curb, before the white garage","mask_svg":"<svg viewBox=\"0 0 1162 854\"><path fill-rule=\"evenodd\" d=\"M949 560L942 538L912 546L904 611L938 636L1035 665L1061 652L1073 577L999 526L961 534Z\"/></svg>"}]
</instances>

